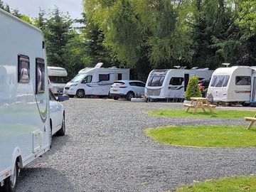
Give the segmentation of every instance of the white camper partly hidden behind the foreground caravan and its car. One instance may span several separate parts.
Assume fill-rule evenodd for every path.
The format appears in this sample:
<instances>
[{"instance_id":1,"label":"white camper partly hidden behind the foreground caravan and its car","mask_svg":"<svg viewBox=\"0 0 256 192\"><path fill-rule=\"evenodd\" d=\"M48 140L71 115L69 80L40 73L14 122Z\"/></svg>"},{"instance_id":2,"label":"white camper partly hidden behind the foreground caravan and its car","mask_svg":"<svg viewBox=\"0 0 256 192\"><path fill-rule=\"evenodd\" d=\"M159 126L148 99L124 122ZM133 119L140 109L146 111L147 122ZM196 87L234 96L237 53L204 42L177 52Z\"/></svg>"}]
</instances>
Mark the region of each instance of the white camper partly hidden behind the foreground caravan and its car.
<instances>
[{"instance_id":1,"label":"white camper partly hidden behind the foreground caravan and its car","mask_svg":"<svg viewBox=\"0 0 256 192\"><path fill-rule=\"evenodd\" d=\"M48 78L50 80L50 90L55 95L63 95L63 89L66 85L68 76L65 68L48 66Z\"/></svg>"}]
</instances>

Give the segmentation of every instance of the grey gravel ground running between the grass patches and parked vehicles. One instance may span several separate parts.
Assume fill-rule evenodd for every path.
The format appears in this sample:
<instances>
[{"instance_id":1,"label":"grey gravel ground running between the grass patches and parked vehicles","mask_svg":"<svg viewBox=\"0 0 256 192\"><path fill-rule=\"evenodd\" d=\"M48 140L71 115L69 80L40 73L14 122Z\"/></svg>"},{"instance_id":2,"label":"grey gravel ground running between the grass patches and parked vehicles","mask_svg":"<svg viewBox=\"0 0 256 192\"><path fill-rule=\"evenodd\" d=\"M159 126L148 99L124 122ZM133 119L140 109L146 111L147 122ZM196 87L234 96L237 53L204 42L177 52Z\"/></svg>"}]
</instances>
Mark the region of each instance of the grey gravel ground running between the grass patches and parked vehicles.
<instances>
[{"instance_id":1,"label":"grey gravel ground running between the grass patches and parked vehicles","mask_svg":"<svg viewBox=\"0 0 256 192\"><path fill-rule=\"evenodd\" d=\"M172 191L176 186L256 174L256 149L213 149L156 144L147 127L241 124L243 119L151 117L146 111L181 103L70 99L66 135L21 170L17 191ZM228 108L227 108L228 109ZM253 109L253 108L250 108Z\"/></svg>"}]
</instances>

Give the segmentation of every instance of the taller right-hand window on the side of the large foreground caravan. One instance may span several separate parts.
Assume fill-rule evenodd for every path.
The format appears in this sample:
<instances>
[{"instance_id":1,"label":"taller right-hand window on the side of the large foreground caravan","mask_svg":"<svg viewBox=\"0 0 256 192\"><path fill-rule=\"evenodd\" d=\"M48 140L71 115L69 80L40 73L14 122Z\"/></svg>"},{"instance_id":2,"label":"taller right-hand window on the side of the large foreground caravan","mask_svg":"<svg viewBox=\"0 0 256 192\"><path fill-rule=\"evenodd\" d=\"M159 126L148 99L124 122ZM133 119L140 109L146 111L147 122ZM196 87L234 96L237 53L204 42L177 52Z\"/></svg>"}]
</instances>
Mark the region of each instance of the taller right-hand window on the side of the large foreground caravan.
<instances>
[{"instance_id":1,"label":"taller right-hand window on the side of the large foreground caravan","mask_svg":"<svg viewBox=\"0 0 256 192\"><path fill-rule=\"evenodd\" d=\"M45 90L45 63L42 58L36 58L36 93L43 93Z\"/></svg>"}]
</instances>

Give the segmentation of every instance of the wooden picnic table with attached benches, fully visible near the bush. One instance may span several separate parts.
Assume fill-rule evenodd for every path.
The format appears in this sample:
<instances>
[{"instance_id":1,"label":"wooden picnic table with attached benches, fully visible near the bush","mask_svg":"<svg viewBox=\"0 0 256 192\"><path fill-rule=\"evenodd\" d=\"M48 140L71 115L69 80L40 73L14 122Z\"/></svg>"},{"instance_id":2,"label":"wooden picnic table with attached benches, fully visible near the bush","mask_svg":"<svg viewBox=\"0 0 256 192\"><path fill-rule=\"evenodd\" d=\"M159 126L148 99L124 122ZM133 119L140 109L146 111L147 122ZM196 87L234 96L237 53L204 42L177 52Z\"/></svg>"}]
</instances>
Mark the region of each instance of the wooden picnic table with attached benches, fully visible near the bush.
<instances>
[{"instance_id":1,"label":"wooden picnic table with attached benches, fully visible near the bush","mask_svg":"<svg viewBox=\"0 0 256 192\"><path fill-rule=\"evenodd\" d=\"M194 104L195 102L196 104ZM216 105L210 105L208 98L205 97L191 97L190 104L184 104L184 106L187 107L186 112L193 109L193 114L195 114L198 109L202 109L203 112L206 112L206 108L208 108L210 113L213 114L213 109L216 107Z\"/></svg>"}]
</instances>

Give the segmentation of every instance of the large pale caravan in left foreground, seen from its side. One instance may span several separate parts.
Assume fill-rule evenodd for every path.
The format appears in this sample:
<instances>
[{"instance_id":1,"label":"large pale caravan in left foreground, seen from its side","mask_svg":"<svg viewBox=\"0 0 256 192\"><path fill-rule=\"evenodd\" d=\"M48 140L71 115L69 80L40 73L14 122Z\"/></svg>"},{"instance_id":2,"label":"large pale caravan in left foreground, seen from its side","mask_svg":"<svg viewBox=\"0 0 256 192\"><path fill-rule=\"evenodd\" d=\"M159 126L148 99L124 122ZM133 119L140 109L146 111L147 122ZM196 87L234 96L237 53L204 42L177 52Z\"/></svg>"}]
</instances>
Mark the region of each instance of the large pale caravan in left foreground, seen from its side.
<instances>
[{"instance_id":1,"label":"large pale caravan in left foreground, seen from its side","mask_svg":"<svg viewBox=\"0 0 256 192\"><path fill-rule=\"evenodd\" d=\"M50 149L42 32L0 9L0 191L16 191L20 168Z\"/></svg>"}]
</instances>

